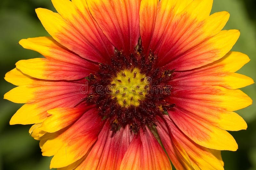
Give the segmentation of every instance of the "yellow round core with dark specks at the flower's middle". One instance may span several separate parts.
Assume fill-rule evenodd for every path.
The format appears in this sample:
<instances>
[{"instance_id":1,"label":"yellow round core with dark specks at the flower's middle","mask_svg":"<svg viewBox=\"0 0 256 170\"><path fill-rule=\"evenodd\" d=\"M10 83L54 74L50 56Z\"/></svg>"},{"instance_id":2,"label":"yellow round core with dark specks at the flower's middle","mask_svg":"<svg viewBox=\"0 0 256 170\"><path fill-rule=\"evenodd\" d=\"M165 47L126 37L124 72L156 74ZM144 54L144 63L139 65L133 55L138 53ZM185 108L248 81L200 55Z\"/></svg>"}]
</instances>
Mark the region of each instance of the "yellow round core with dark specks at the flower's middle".
<instances>
[{"instance_id":1,"label":"yellow round core with dark specks at the flower's middle","mask_svg":"<svg viewBox=\"0 0 256 170\"><path fill-rule=\"evenodd\" d=\"M122 107L139 106L148 93L150 81L138 68L122 70L111 82L111 95Z\"/></svg>"}]
</instances>

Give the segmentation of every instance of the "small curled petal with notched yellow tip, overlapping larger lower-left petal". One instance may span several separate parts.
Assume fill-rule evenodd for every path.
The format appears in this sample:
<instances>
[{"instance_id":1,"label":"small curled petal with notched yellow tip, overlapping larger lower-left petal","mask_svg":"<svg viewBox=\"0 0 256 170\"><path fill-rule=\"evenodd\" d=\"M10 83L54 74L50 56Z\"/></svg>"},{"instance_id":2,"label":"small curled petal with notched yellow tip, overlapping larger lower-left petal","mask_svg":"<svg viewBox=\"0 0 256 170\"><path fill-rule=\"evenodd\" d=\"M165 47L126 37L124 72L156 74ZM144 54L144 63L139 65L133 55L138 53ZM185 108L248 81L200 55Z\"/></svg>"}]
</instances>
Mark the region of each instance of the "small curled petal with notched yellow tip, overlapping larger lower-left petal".
<instances>
[{"instance_id":1,"label":"small curled petal with notched yellow tip, overlapping larger lower-left petal","mask_svg":"<svg viewBox=\"0 0 256 170\"><path fill-rule=\"evenodd\" d=\"M59 131L60 129L63 129L75 122L90 108L92 108L92 106L79 108L55 108L47 110L47 113L51 116L44 120L39 129L50 133Z\"/></svg>"}]
</instances>

